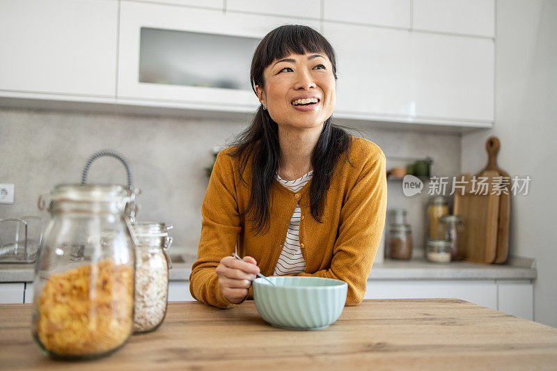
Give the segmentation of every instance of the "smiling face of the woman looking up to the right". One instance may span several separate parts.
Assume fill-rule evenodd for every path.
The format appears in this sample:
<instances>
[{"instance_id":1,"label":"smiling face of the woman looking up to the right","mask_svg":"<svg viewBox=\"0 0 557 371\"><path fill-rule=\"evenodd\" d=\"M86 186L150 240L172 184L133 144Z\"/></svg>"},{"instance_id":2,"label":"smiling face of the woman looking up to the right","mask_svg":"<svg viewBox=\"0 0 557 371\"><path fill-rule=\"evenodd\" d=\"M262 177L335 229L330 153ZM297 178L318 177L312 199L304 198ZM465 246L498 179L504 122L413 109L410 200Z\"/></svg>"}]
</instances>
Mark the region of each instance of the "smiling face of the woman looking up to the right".
<instances>
[{"instance_id":1,"label":"smiling face of the woman looking up to the right","mask_svg":"<svg viewBox=\"0 0 557 371\"><path fill-rule=\"evenodd\" d=\"M256 92L279 126L318 127L333 114L336 81L326 54L290 54L267 66L264 78L265 89Z\"/></svg>"}]
</instances>

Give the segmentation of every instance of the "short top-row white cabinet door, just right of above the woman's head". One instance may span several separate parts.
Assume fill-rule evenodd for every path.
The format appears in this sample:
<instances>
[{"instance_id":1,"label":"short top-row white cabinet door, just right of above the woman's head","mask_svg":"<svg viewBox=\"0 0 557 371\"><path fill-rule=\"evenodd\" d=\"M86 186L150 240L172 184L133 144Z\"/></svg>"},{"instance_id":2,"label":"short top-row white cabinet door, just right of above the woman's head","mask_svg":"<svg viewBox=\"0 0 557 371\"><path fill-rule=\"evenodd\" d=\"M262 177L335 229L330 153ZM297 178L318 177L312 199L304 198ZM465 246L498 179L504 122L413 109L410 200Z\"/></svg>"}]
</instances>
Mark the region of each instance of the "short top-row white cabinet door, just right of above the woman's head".
<instances>
[{"instance_id":1,"label":"short top-row white cabinet door, just right of above the woman's head","mask_svg":"<svg viewBox=\"0 0 557 371\"><path fill-rule=\"evenodd\" d=\"M323 19L408 29L410 3L411 0L324 0Z\"/></svg>"}]
</instances>

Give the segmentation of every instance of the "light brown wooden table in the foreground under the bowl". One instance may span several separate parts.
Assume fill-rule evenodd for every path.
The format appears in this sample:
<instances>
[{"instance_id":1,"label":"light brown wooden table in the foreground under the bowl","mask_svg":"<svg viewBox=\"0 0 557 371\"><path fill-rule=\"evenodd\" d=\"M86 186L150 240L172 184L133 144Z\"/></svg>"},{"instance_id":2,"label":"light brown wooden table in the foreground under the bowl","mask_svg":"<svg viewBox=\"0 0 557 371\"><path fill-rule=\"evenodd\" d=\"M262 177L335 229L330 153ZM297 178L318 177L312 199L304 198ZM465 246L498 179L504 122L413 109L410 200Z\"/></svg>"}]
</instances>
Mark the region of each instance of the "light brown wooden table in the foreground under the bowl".
<instances>
[{"instance_id":1,"label":"light brown wooden table in the foreground under the bowl","mask_svg":"<svg viewBox=\"0 0 557 371\"><path fill-rule=\"evenodd\" d=\"M459 299L365 300L327 329L276 329L253 301L169 303L162 326L94 361L54 361L31 304L0 305L2 370L557 370L557 329Z\"/></svg>"}]
</instances>

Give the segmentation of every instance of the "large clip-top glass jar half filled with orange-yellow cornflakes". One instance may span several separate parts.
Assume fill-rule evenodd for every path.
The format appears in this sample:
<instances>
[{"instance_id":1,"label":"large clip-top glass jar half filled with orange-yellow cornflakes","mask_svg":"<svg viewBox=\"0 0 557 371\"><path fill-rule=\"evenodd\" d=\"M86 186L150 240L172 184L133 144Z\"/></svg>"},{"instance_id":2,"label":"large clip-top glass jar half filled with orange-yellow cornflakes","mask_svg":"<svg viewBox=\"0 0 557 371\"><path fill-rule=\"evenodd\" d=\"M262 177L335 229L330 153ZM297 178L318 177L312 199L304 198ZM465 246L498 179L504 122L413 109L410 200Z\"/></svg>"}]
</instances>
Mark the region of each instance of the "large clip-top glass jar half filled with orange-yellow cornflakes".
<instances>
[{"instance_id":1,"label":"large clip-top glass jar half filled with orange-yellow cornflakes","mask_svg":"<svg viewBox=\"0 0 557 371\"><path fill-rule=\"evenodd\" d=\"M132 333L134 248L119 185L61 184L47 197L51 220L36 263L33 337L55 358L114 352Z\"/></svg>"}]
</instances>

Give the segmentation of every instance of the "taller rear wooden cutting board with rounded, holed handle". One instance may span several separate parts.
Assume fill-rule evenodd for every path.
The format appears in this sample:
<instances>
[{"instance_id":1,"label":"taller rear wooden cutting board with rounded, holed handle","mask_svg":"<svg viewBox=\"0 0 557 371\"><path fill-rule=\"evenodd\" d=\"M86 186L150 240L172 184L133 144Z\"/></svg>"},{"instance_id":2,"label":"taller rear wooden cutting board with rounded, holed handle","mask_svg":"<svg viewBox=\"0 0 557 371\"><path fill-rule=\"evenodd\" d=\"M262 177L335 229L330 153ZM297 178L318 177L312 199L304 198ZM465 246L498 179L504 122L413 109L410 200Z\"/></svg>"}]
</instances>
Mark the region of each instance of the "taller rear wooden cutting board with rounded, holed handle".
<instances>
[{"instance_id":1,"label":"taller rear wooden cutting board with rounded, holed handle","mask_svg":"<svg viewBox=\"0 0 557 371\"><path fill-rule=\"evenodd\" d=\"M499 196L499 216L497 221L497 248L494 263L502 264L507 261L509 249L509 221L510 221L510 177L508 173L501 170L497 166L497 152L501 147L501 142L496 136L490 136L485 142L485 150L487 150L487 165L476 174L476 176L485 176L486 171L496 171L499 176L506 177L507 181L503 183L506 189Z\"/></svg>"}]
</instances>

